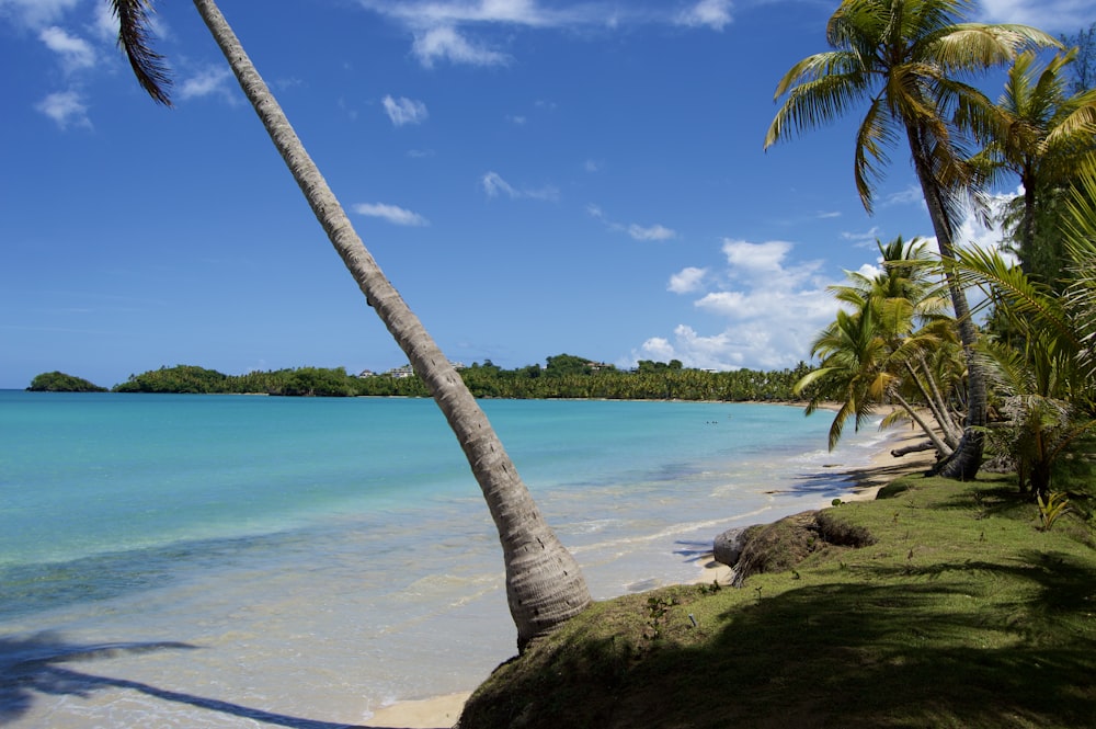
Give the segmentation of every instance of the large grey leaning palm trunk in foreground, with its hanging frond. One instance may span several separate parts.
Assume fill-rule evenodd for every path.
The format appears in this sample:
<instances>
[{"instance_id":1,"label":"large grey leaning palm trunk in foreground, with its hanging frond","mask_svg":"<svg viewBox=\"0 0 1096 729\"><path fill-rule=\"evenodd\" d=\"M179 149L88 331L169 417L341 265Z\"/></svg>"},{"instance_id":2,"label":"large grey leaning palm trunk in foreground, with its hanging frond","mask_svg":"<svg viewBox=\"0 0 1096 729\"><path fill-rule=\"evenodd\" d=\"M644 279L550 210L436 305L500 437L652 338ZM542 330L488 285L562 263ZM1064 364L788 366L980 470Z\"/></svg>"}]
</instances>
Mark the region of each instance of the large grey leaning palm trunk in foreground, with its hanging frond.
<instances>
[{"instance_id":1,"label":"large grey leaning palm trunk in foreground, with its hanging frond","mask_svg":"<svg viewBox=\"0 0 1096 729\"><path fill-rule=\"evenodd\" d=\"M118 43L140 86L170 104L163 58L149 44L151 0L110 0ZM213 0L194 0L290 173L369 306L407 354L445 414L480 485L502 542L506 596L520 650L591 602L578 562L556 537L460 375L377 265L297 137L277 100Z\"/></svg>"}]
</instances>

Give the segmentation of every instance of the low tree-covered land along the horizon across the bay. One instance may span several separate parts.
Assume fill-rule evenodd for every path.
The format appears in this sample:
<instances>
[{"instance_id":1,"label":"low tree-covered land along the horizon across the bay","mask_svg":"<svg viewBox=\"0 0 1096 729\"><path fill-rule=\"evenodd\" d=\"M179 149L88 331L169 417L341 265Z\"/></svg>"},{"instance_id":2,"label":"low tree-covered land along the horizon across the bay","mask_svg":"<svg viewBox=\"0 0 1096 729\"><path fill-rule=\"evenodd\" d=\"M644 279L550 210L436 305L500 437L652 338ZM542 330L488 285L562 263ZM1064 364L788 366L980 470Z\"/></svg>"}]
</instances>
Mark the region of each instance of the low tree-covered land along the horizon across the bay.
<instances>
[{"instance_id":1,"label":"low tree-covered land along the horizon across the bay","mask_svg":"<svg viewBox=\"0 0 1096 729\"><path fill-rule=\"evenodd\" d=\"M810 372L800 362L794 369L761 372L735 369L712 372L641 360L635 369L586 357L559 354L547 366L528 365L503 369L490 360L457 369L478 398L505 399L610 399L610 400L718 400L781 402L810 397L796 396L795 384ZM110 390L60 372L38 375L27 388L50 392L173 392L238 394L287 397L430 397L410 365L386 373L350 374L344 367L297 367L244 375L226 375L194 365L160 367L130 375Z\"/></svg>"}]
</instances>

